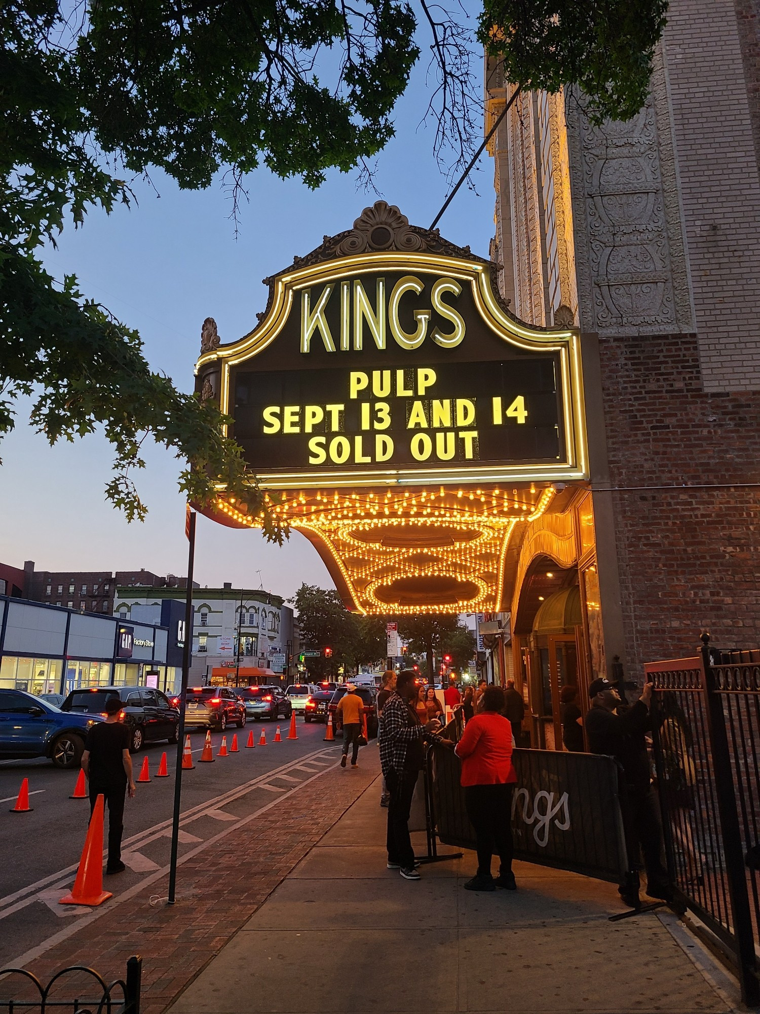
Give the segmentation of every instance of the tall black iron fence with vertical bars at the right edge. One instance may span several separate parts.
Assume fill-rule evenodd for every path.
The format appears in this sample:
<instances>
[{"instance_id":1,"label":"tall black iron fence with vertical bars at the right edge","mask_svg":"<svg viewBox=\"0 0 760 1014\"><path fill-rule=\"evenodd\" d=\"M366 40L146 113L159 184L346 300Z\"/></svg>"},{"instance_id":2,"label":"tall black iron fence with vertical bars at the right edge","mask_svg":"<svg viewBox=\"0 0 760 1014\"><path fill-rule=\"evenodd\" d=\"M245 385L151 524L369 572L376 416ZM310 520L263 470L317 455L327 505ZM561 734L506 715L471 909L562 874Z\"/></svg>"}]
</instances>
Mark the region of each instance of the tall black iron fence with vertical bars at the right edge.
<instances>
[{"instance_id":1,"label":"tall black iron fence with vertical bars at the right edge","mask_svg":"<svg viewBox=\"0 0 760 1014\"><path fill-rule=\"evenodd\" d=\"M760 651L644 666L655 684L653 745L677 900L737 966L760 1003Z\"/></svg>"}]
</instances>

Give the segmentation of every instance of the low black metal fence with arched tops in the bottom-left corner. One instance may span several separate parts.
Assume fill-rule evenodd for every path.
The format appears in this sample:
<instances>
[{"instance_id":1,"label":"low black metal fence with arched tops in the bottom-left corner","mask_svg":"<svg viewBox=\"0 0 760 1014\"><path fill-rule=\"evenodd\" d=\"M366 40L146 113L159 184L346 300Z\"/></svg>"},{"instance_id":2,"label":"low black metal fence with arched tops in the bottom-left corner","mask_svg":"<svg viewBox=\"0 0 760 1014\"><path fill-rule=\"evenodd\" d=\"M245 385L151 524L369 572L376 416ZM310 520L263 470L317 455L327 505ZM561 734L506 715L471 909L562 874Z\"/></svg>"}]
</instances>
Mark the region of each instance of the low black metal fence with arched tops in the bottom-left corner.
<instances>
[{"instance_id":1,"label":"low black metal fence with arched tops in the bottom-left corner","mask_svg":"<svg viewBox=\"0 0 760 1014\"><path fill-rule=\"evenodd\" d=\"M117 979L107 984L98 973L88 968L86 965L75 964L68 968L57 971L47 986L43 986L36 975L32 975L25 968L2 968L0 969L0 1011L8 1011L8 1014L46 1014L46 1011L53 1009L71 1011L71 1014L140 1014L140 985L142 977L143 959L141 957L131 957L127 961L127 973L124 979ZM76 988L93 990L92 981L97 985L99 996L96 999L83 1000L77 997L72 1000L53 999L58 996L53 987L61 987L65 976L75 976ZM26 999L10 999L5 994L15 988L21 980L22 985L27 987ZM85 985L86 984L86 985ZM30 999L29 999L30 998Z\"/></svg>"}]
</instances>

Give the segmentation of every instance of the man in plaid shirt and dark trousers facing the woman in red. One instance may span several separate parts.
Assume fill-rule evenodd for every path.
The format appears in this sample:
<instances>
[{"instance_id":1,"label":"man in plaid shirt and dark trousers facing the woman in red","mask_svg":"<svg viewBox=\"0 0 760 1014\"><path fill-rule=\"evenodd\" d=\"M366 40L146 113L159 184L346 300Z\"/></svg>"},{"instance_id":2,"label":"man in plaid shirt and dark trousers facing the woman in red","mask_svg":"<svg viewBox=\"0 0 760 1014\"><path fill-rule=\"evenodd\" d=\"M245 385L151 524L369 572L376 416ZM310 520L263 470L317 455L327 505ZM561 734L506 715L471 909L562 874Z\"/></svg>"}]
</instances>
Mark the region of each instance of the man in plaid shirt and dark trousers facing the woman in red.
<instances>
[{"instance_id":1,"label":"man in plaid shirt and dark trousers facing the woman in red","mask_svg":"<svg viewBox=\"0 0 760 1014\"><path fill-rule=\"evenodd\" d=\"M398 870L406 880L419 880L414 852L409 839L409 810L420 770L425 762L423 740L440 739L441 723L423 725L410 702L416 694L416 673L398 673L396 689L385 702L380 729L380 767L390 793L388 801L388 869ZM445 742L445 740L441 740Z\"/></svg>"}]
</instances>

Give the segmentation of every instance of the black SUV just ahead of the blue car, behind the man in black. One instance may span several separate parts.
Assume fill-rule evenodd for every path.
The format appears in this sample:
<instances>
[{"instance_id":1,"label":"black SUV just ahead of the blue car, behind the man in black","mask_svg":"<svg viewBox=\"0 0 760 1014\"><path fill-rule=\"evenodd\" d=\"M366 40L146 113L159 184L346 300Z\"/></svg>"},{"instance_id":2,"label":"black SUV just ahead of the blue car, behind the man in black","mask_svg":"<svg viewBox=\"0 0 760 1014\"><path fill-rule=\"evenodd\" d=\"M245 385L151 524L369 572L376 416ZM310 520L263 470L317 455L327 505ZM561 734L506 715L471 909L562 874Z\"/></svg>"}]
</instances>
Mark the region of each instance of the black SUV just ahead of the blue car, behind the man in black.
<instances>
[{"instance_id":1,"label":"black SUV just ahead of the blue car, behind the man in black","mask_svg":"<svg viewBox=\"0 0 760 1014\"><path fill-rule=\"evenodd\" d=\"M61 711L103 715L105 702L112 697L122 702L121 719L130 728L133 752L159 739L176 742L179 711L161 691L149 686L80 686L69 694Z\"/></svg>"}]
</instances>

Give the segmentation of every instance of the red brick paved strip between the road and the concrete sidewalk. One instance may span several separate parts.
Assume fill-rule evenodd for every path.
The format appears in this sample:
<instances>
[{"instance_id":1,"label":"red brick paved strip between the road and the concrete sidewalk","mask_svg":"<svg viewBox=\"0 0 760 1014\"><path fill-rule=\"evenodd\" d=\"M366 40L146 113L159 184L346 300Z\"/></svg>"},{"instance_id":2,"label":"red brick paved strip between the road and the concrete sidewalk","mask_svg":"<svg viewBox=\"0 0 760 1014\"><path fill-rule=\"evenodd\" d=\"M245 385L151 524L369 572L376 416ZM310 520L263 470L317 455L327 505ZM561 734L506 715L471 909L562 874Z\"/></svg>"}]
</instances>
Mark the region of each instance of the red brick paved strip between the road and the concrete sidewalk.
<instances>
[{"instance_id":1,"label":"red brick paved strip between the road and the concrete sidewalk","mask_svg":"<svg viewBox=\"0 0 760 1014\"><path fill-rule=\"evenodd\" d=\"M165 902L168 876L164 874L112 911L95 919L83 917L75 933L25 967L46 983L62 967L86 964L112 982L124 977L127 959L140 954L141 1014L160 1014L359 798L378 771L373 744L362 750L358 771L326 770L254 815L245 826L181 862L174 906ZM118 880L111 883L109 879L106 887L118 900ZM72 979L66 984L66 997L91 999L89 984L85 986L79 976ZM21 985L17 976L0 983L0 1003L6 993L22 998Z\"/></svg>"}]
</instances>

